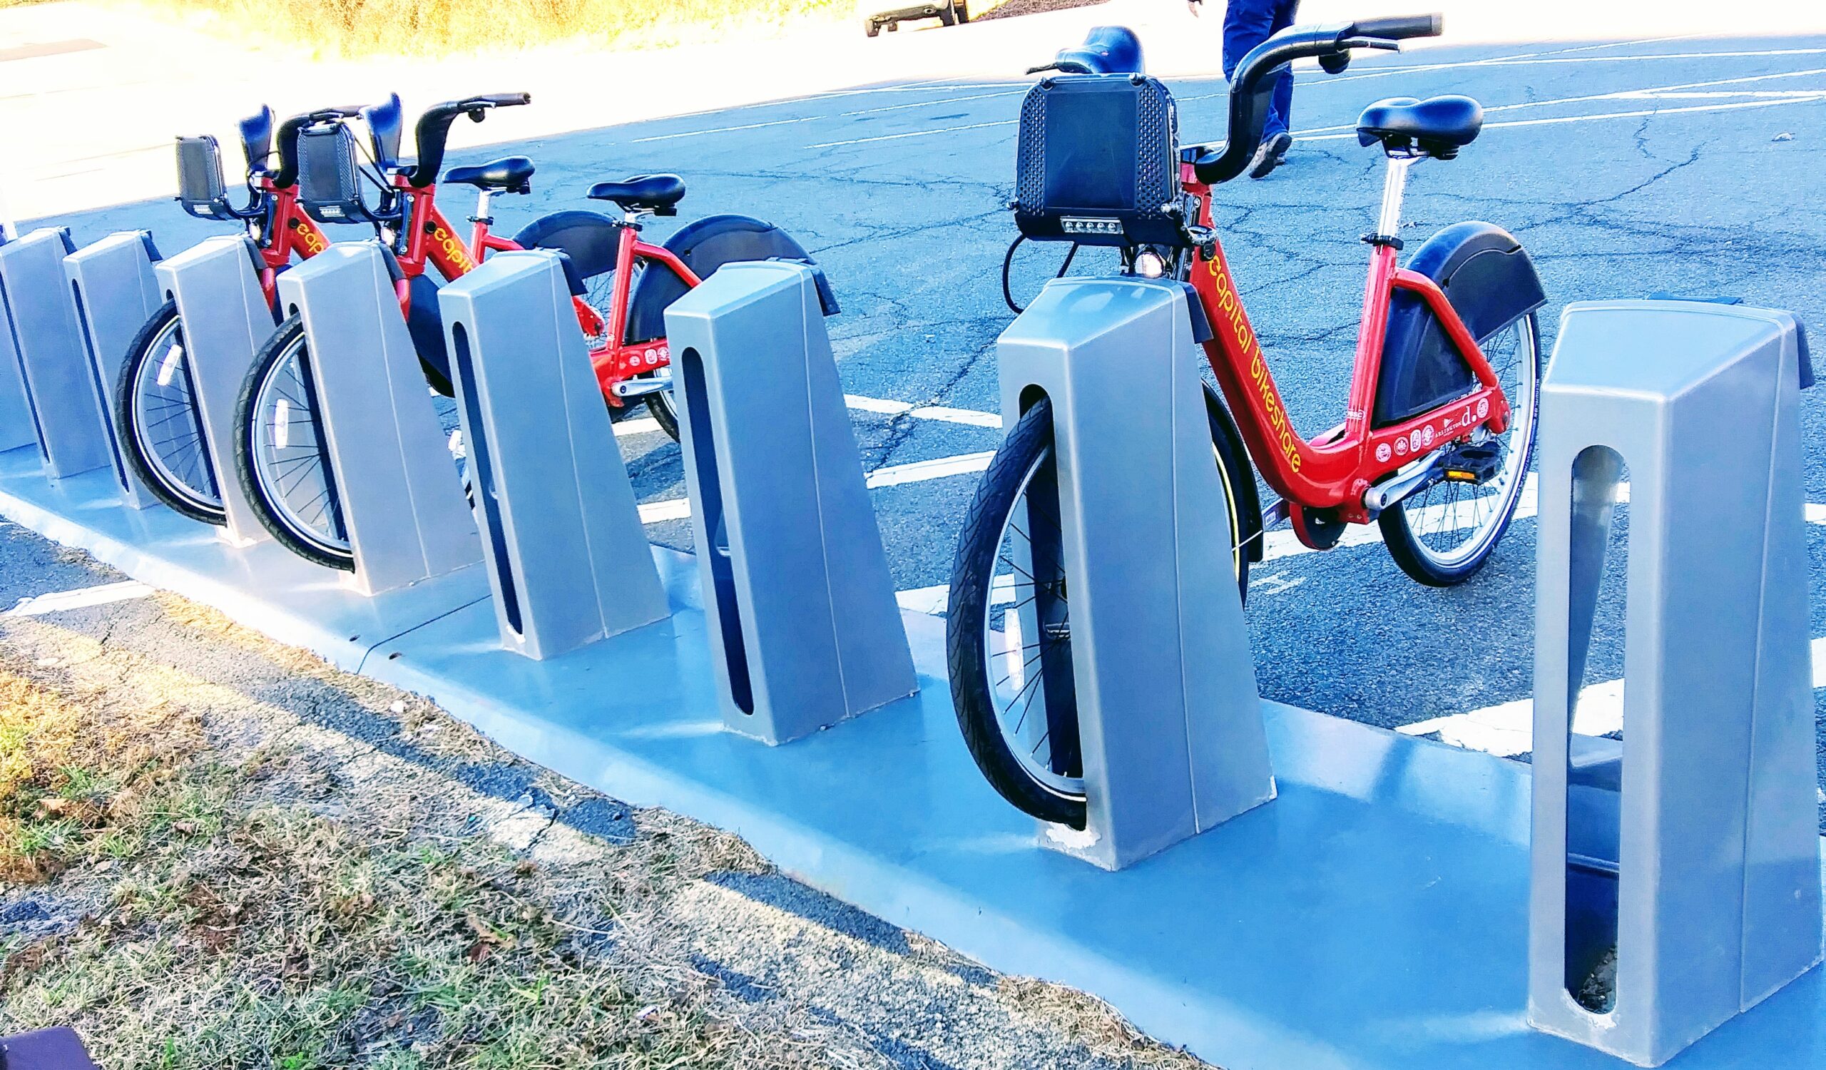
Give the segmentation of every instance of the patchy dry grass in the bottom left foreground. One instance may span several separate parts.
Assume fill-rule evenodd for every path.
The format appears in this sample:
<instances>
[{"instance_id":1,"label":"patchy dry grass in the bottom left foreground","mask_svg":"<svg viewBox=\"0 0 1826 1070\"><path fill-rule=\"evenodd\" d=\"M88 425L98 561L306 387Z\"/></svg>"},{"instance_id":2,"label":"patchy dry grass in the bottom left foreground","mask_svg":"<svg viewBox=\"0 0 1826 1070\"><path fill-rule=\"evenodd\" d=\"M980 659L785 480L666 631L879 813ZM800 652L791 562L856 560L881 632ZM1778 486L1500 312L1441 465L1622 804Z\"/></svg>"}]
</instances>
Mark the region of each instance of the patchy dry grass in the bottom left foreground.
<instances>
[{"instance_id":1,"label":"patchy dry grass in the bottom left foreground","mask_svg":"<svg viewBox=\"0 0 1826 1070\"><path fill-rule=\"evenodd\" d=\"M228 763L177 703L5 668L0 725L0 891L80 904L0 939L0 1033L75 1024L122 1070L824 1065L665 939L681 884L763 869L732 836L641 813L540 864L429 778L336 791L358 763L332 736Z\"/></svg>"}]
</instances>

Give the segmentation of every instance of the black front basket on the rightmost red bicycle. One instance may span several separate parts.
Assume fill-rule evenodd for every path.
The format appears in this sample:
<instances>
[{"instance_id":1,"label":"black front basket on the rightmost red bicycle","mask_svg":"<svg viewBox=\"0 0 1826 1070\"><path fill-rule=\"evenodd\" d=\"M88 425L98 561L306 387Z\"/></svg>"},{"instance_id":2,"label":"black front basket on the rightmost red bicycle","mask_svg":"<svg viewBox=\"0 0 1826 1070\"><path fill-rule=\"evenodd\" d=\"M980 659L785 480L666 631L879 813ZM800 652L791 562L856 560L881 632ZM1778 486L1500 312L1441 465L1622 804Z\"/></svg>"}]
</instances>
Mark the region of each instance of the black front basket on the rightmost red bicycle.
<instances>
[{"instance_id":1,"label":"black front basket on the rightmost red bicycle","mask_svg":"<svg viewBox=\"0 0 1826 1070\"><path fill-rule=\"evenodd\" d=\"M1015 225L1035 241L1185 245L1180 121L1141 75L1065 75L1021 104Z\"/></svg>"}]
</instances>

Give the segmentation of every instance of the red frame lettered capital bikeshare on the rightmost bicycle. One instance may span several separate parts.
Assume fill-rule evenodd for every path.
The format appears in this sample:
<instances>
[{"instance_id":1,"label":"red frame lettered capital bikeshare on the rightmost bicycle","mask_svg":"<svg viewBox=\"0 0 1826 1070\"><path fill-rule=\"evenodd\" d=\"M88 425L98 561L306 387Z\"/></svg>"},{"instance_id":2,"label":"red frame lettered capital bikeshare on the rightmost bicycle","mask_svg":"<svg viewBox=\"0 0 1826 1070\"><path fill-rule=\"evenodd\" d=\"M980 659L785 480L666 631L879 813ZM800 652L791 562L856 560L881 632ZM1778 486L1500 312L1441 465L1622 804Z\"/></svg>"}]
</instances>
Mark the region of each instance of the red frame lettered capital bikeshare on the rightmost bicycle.
<instances>
[{"instance_id":1,"label":"red frame lettered capital bikeshare on the rightmost bicycle","mask_svg":"<svg viewBox=\"0 0 1826 1070\"><path fill-rule=\"evenodd\" d=\"M1200 225L1212 226L1211 186L1198 183L1191 168L1185 168L1183 186L1198 199ZM1344 424L1311 440L1300 438L1287 418L1262 341L1249 323L1216 237L1205 248L1192 252L1191 274L1192 288L1212 327L1205 358L1218 376L1218 385L1262 478L1289 504L1300 509L1335 509L1338 519L1353 524L1375 519L1364 506L1364 491L1373 482L1426 458L1479 425L1503 433L1510 413L1495 372L1490 371L1490 363L1444 290L1433 279L1399 267L1393 245L1373 248ZM1395 290L1408 290L1426 301L1479 385L1470 394L1410 420L1371 427L1370 413L1375 407Z\"/></svg>"}]
</instances>

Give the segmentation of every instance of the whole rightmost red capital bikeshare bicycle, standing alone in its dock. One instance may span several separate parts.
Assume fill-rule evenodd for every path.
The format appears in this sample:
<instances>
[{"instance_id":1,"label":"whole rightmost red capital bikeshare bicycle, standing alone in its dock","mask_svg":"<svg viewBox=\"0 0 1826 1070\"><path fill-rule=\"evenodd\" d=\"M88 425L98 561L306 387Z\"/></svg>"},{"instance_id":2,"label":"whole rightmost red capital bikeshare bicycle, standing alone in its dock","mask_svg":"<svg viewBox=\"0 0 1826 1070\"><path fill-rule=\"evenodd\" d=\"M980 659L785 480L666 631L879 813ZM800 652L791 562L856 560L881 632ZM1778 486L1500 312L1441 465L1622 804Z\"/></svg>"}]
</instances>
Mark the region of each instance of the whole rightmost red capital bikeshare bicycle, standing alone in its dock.
<instances>
[{"instance_id":1,"label":"whole rightmost red capital bikeshare bicycle, standing alone in its dock","mask_svg":"<svg viewBox=\"0 0 1826 1070\"><path fill-rule=\"evenodd\" d=\"M1260 142L1280 68L1317 58L1338 73L1353 49L1399 49L1401 38L1437 35L1439 24L1433 15L1276 33L1238 66L1229 137L1214 146L1174 153L1172 99L1141 75L1138 46L1127 69L1046 79L1023 108L1023 234L1119 247L1125 274L1191 285L1194 314L1211 325L1203 349L1222 398L1207 385L1205 405L1233 533L1231 546L1212 551L1231 555L1240 588L1251 559L1260 561L1264 528L1282 519L1315 550L1335 546L1348 524L1377 522L1410 577L1444 586L1488 561L1516 513L1541 374L1536 309L1545 294L1534 267L1488 223L1446 226L1406 267L1397 259L1408 170L1453 159L1477 137L1475 100L1395 97L1359 117L1359 141L1382 148L1388 173L1377 228L1364 237L1370 279L1344 422L1315 438L1287 418L1212 230L1212 192L1242 173ZM1085 173L1099 166L1114 173ZM1097 201L1099 190L1132 195ZM1026 813L1081 829L1070 548L1059 524L1052 409L1044 396L1024 398L1023 409L957 546L951 696L990 783ZM1265 515L1251 460L1280 495Z\"/></svg>"}]
</instances>

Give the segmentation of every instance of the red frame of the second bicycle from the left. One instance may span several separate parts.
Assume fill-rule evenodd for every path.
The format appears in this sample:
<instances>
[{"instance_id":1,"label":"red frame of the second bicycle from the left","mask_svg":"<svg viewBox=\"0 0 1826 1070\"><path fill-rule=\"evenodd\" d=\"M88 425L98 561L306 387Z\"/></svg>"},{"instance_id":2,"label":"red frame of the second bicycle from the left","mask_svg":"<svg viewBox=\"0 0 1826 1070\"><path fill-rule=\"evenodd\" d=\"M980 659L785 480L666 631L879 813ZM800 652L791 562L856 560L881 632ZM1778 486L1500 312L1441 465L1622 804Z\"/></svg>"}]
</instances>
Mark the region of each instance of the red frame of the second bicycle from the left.
<instances>
[{"instance_id":1,"label":"red frame of the second bicycle from the left","mask_svg":"<svg viewBox=\"0 0 1826 1070\"><path fill-rule=\"evenodd\" d=\"M456 226L438 210L436 186L413 186L404 175L394 177L394 188L407 201L405 212L405 248L400 254L400 270L405 276L396 290L400 312L409 312L411 279L425 274L425 265L438 268L446 279L455 279L477 268L489 252L513 252L520 247L489 232L493 219L488 214L489 192L484 190L475 214L475 226L469 241L458 236ZM685 267L670 250L639 239L639 225L634 214L623 221L619 245L615 248L615 290L603 318L588 301L572 296L577 312L577 327L590 340L590 363L595 371L603 398L623 407L632 398L623 398L615 387L634 376L648 374L672 363L672 351L665 338L646 341L626 341L628 332L628 296L632 290L634 267L641 263L659 263L679 278L687 287L696 287L701 279Z\"/></svg>"}]
</instances>

